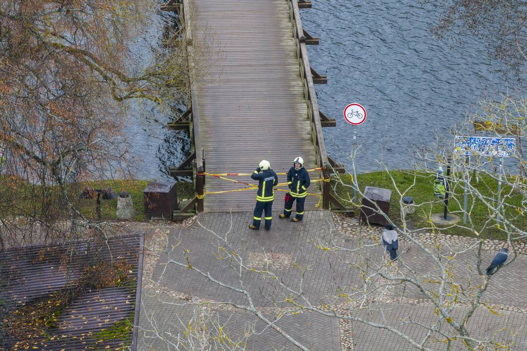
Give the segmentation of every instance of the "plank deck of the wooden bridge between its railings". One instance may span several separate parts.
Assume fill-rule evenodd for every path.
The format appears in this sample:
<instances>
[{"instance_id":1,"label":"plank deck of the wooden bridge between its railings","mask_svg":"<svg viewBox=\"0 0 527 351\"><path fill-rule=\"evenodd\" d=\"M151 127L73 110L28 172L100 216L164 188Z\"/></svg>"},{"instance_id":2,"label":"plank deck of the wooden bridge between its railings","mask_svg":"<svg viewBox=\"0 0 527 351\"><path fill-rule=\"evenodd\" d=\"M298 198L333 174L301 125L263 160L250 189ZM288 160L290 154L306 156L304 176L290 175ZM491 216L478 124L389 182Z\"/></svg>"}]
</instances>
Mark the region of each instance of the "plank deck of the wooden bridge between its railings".
<instances>
[{"instance_id":1,"label":"plank deck of the wooden bridge between its railings","mask_svg":"<svg viewBox=\"0 0 527 351\"><path fill-rule=\"evenodd\" d=\"M287 172L295 157L319 167L299 72L293 26L286 0L194 0L193 41L206 40L215 53L204 81L196 84L201 147L206 172L251 173L262 159ZM313 179L318 172L310 173ZM253 183L250 177L236 177ZM286 176L279 176L286 182ZM244 185L207 177L206 192ZM287 189L287 187L283 187ZM309 187L320 194L320 184ZM285 193L275 192L274 209ZM206 195L206 212L247 211L256 191ZM319 196L308 196L315 209Z\"/></svg>"}]
</instances>

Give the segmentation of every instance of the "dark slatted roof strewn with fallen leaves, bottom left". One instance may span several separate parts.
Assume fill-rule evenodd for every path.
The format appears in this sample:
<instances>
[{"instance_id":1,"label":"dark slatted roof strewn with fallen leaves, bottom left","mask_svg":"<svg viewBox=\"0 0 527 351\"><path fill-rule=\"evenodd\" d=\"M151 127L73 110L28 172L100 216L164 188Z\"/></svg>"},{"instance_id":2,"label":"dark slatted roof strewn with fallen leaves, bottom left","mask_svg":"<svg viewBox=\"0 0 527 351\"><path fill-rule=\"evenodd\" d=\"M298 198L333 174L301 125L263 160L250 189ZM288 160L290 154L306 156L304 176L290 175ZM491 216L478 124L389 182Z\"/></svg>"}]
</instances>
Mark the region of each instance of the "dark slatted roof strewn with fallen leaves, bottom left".
<instances>
[{"instance_id":1,"label":"dark slatted roof strewn with fallen leaves, bottom left","mask_svg":"<svg viewBox=\"0 0 527 351\"><path fill-rule=\"evenodd\" d=\"M127 235L101 245L91 240L0 252L0 350L129 347L142 240Z\"/></svg>"}]
</instances>

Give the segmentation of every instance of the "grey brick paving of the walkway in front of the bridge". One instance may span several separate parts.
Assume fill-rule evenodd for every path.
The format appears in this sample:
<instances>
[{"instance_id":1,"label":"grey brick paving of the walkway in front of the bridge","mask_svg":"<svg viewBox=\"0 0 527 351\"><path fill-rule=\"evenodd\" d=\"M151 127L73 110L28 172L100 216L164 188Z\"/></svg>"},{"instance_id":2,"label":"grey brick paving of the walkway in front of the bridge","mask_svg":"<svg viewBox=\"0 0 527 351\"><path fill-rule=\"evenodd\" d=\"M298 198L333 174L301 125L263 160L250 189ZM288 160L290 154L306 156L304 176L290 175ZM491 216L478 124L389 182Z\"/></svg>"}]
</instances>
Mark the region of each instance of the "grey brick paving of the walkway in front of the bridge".
<instances>
[{"instance_id":1,"label":"grey brick paving of the walkway in front of the bridge","mask_svg":"<svg viewBox=\"0 0 527 351\"><path fill-rule=\"evenodd\" d=\"M335 255L328 254L326 250L317 247L319 244L325 245L329 238L336 245L357 247L356 238L341 234L335 229L331 213L326 211L306 212L301 223L290 223L278 219L278 212L273 215L275 219L270 232L264 230L263 226L258 232L249 229L248 224L252 218L250 213L232 214L232 227L231 215L226 213L202 214L199 216L199 221L204 228L214 230L219 235L225 235L228 232L228 240L232 249L236 250L248 266L258 268L268 262L274 272L284 279L284 282L296 289L300 289L301 286L314 305L327 303L328 298L334 296L335 290L338 288L356 286L360 282L361 278L356 269L350 269ZM182 248L177 246L180 243L189 250L191 265L209 273L221 282L241 287L235 270L229 267L229 262L219 260L216 257L217 248L214 244L218 243L218 239L203 227L195 223L188 228L171 229L167 233L167 247L169 250L172 246L176 246L176 248L172 250L170 258L185 262ZM164 249L164 244L162 246ZM402 249L404 252L403 260L408 266L413 267L423 276L433 272L430 258L427 258L417 246L405 243ZM263 255L264 252L268 254L267 259ZM357 253L348 253L343 255L343 258L357 260L357 255ZM372 262L375 260L380 262L383 259L382 250L379 246L365 249L362 255L368 257ZM494 252L485 252L484 262L490 262L493 256ZM469 277L474 282L477 281L475 279L479 279L474 269L465 268L464 264L464 262L472 262L474 257L473 252L455 257L456 262L458 262L457 266L460 267L456 270L456 275L460 277L461 281L466 281ZM248 304L247 298L242 294L211 283L208 279L199 276L188 268L168 265L167 269L164 269L164 263L167 260L166 254L160 254L158 263L153 269L152 280L159 282L159 284L143 285L145 287L142 294L140 326L145 330L151 329L145 313L153 314L158 325L168 327L169 323L178 324L175 323L177 316L183 322L181 325L187 325L191 316L191 307L161 303L161 301L178 304L186 302L174 296L186 299L198 297L241 305ZM309 266L312 270L301 279L300 270L296 268L295 263L302 267ZM483 299L491 304L508 305L514 312L500 311L501 316L495 316L486 309L477 309L469 328L481 330L482 335L493 333L501 328L499 336L507 338L512 330L521 329L525 325L527 315L524 312L527 310L527 297L524 292L527 277L524 272L526 268L527 259L522 255L515 263L501 270L500 274L492 278L490 287ZM401 272L404 272L404 268L401 268ZM272 313L275 306L283 306L284 304L280 300L289 295L272 279L263 279L260 275L252 272L243 273L242 278L243 288L250 293L254 304L262 308L264 313ZM416 300L423 296L413 288L407 287L404 292L402 290L399 292L404 293L406 302L402 305L393 306L392 309L384 312L386 323L397 326L403 332L407 332L408 335L420 340L426 334L425 329L405 324L404 321L411 318L419 323L430 323L431 317L435 316L434 308L428 303L417 303ZM388 307L388 305L383 306ZM248 350L273 349L272 347L287 350L297 349L289 342L286 343L285 339L275 330L264 329L264 324L253 315L221 309L218 313L220 319L231 321L230 325L233 329L240 330L241 325L246 322L256 323L256 330L259 333L249 339ZM381 314L367 309L352 308L347 313L382 322ZM462 313L461 307L458 313ZM387 346L391 350L411 349L405 340L386 330L376 329L362 323L340 323L339 326L339 322L335 318L314 313L285 316L278 325L284 327L299 342L314 350L372 351L384 350ZM179 330L175 326L171 326L171 329L172 331ZM150 338L149 335L151 336L152 333L140 332L141 337L138 343L140 347L138 349L150 349L147 345L155 346L154 349L158 351L167 349L163 348L159 340ZM343 340L348 340L348 343L354 345L348 344L348 346L343 347L341 346ZM427 343L427 347L437 350L445 349L443 343L433 342L433 340ZM515 348L513 349L527 349L527 337L524 334L516 335Z\"/></svg>"}]
</instances>

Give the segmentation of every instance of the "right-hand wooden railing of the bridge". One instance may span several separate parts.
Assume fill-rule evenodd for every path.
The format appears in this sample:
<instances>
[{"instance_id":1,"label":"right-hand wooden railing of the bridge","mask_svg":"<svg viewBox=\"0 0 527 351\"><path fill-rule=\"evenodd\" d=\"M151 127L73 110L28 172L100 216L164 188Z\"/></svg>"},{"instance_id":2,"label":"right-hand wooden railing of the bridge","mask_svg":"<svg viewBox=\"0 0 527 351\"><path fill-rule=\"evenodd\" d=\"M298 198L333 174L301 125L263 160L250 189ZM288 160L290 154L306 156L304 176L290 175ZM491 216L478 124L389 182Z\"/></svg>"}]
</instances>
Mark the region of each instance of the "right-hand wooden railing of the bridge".
<instances>
[{"instance_id":1,"label":"right-hand wooden railing of the bridge","mask_svg":"<svg viewBox=\"0 0 527 351\"><path fill-rule=\"evenodd\" d=\"M298 0L285 0L289 4L289 17L293 25L293 36L295 37L295 44L297 49L297 56L300 69L300 77L304 84L304 97L307 104L307 113L309 121L311 122L311 138L315 144L316 161L320 171L320 178L329 179L328 157L326 154L326 145L324 144L324 135L322 133L322 124L320 122L320 114L318 112L317 97L315 94L315 84L313 83L313 75L311 74L311 66L309 65L309 57L307 55L306 37L304 36L304 29L300 18L300 11L298 9ZM322 205L324 209L329 209L329 182L321 182L322 191Z\"/></svg>"}]
</instances>

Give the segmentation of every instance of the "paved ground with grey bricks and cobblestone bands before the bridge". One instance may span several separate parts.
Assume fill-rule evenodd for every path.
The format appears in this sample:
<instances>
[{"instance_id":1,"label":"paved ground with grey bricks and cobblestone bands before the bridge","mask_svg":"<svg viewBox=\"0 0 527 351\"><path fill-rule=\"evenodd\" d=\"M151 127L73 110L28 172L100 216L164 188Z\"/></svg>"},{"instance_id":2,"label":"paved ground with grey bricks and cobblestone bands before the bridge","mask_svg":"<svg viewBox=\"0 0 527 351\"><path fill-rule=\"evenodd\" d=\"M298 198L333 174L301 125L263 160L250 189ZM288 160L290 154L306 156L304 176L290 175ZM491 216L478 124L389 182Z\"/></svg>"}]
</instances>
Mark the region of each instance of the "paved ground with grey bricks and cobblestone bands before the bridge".
<instances>
[{"instance_id":1,"label":"paved ground with grey bricks and cobblestone bands before the bridge","mask_svg":"<svg viewBox=\"0 0 527 351\"><path fill-rule=\"evenodd\" d=\"M247 296L214 284L186 266L165 265L169 259L186 265L184 250L188 250L188 264L201 269L219 282L245 289L254 305L268 318L276 318L279 308L288 306L284 300L290 296L290 292L275 280L252 272L250 268L258 270L268 265L268 269L275 272L284 284L297 291L301 290L313 305L324 305L337 295L336 292L340 292L340 289L346 287L346 291L349 291L350 287L363 282L359 271L350 268L343 261L358 262L360 255L373 264L384 262L383 251L378 245L364 247L356 252L338 252L340 258L331 252L335 246L357 248L359 239L362 243L375 244L374 239L379 237L382 231L380 227L359 226L354 218L326 211L306 212L304 220L300 223L278 219L278 213L273 215L275 219L269 232L264 230L263 226L258 231L249 229L252 218L250 213L201 214L182 225L159 225L155 230L150 230L149 235L145 236L149 250L144 260L140 316L142 331L139 334L138 349L174 349L160 342L159 338L152 337L153 326L148 316L155 316L154 325L162 326L163 330L170 329L172 333L177 330L184 332L188 320L192 318L192 309L196 308L196 305L188 304L190 301L210 302L209 309L217 313L219 320L228 320L235 334L240 333L242 325L253 323L257 333L249 337L247 350L298 349L276 330L266 328L255 315L228 305L218 307L214 304L229 302L247 306ZM197 222L194 223L194 220ZM221 243L211 230L221 237L226 236L230 246ZM474 242L474 239L455 236L420 235L416 239L428 247L440 243L440 251L452 255L455 250ZM488 250L484 252L483 266L490 262L502 245L503 243L497 241L485 243ZM222 248L218 249L218 246ZM435 268L431 264L431 258L418 246L402 240L400 248L402 261L408 267L417 270L419 275L433 277ZM241 274L243 284L239 281L238 271L234 269L236 265L232 265L229 259L218 259L222 249L236 252L249 267ZM525 253L525 247L520 249ZM480 279L474 269L474 257L474 252L469 250L453 258L456 279L464 284L469 279L471 282ZM301 268L306 267L309 269L304 272ZM476 309L469 324L469 329L481 331L481 334L475 336L497 333L497 338L505 340L510 338L515 330L520 330L520 333L515 335L513 349L527 349L527 337L521 330L527 317L527 297L524 293L527 284L524 274L526 268L527 260L522 254L512 265L492 277L482 300L493 305L497 314L492 314L486 308ZM404 273L405 268L399 265L399 271ZM375 312L375 308L360 308L357 304L347 303L338 304L337 310L344 315L392 325L421 342L426 330L410 324L409 321L430 324L435 317L435 308L427 302L421 292L409 286L404 290L399 286L392 294L398 303L390 304L389 298L385 297L378 305L378 308L383 310L382 313ZM459 306L456 314L463 313L464 308ZM179 323L178 318L182 323ZM291 337L313 350L373 351L384 350L387 346L391 350L412 349L408 342L387 330L321 314L286 313L276 326L284 328ZM433 338L428 340L426 346L434 350L446 349L444 343ZM453 349L458 349L457 346L454 344Z\"/></svg>"}]
</instances>

